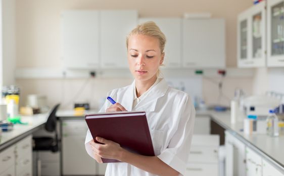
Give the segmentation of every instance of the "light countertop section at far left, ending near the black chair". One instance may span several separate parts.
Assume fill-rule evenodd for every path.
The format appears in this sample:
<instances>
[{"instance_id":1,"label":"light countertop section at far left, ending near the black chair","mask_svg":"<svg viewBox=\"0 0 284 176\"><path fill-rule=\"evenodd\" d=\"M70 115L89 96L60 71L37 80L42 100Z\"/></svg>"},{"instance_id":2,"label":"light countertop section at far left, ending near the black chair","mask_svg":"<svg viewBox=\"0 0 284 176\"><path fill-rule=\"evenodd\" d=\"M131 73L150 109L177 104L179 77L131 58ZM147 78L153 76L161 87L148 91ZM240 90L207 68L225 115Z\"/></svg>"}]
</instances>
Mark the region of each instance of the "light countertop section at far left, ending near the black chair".
<instances>
[{"instance_id":1,"label":"light countertop section at far left, ending near the black chair","mask_svg":"<svg viewBox=\"0 0 284 176\"><path fill-rule=\"evenodd\" d=\"M15 124L13 130L2 132L2 135L0 135L0 151L41 128L48 119L48 116L48 113L22 116L21 122L27 124Z\"/></svg>"}]
</instances>

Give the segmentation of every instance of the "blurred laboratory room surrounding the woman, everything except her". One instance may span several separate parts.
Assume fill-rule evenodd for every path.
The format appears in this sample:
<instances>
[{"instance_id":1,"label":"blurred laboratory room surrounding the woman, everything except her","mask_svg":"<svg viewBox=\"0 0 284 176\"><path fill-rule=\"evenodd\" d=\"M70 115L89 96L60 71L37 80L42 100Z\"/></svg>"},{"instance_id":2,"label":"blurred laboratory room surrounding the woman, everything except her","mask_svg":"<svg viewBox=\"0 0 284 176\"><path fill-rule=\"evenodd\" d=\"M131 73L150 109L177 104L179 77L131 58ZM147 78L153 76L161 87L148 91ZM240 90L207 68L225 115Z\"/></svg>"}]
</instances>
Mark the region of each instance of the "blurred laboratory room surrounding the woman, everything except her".
<instances>
[{"instance_id":1,"label":"blurred laboratory room surrounding the woman, everything except her","mask_svg":"<svg viewBox=\"0 0 284 176\"><path fill-rule=\"evenodd\" d=\"M154 21L196 122L185 176L284 175L283 0L1 0L0 175L104 175L85 114L131 84L126 36ZM36 147L35 147L36 146Z\"/></svg>"}]
</instances>

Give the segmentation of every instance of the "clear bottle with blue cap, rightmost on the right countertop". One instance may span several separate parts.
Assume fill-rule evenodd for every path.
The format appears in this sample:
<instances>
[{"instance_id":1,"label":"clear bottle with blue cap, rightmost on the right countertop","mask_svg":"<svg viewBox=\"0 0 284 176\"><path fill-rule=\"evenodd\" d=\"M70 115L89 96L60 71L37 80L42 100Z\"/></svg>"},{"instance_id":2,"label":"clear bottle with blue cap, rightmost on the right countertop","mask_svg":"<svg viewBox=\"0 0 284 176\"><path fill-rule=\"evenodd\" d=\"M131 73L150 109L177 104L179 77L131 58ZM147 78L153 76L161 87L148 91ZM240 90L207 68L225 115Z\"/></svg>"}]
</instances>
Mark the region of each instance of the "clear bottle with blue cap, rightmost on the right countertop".
<instances>
[{"instance_id":1,"label":"clear bottle with blue cap, rightmost on the right countertop","mask_svg":"<svg viewBox=\"0 0 284 176\"><path fill-rule=\"evenodd\" d=\"M266 124L267 135L271 137L279 136L278 117L276 116L273 110L269 110L269 115L266 118Z\"/></svg>"}]
</instances>

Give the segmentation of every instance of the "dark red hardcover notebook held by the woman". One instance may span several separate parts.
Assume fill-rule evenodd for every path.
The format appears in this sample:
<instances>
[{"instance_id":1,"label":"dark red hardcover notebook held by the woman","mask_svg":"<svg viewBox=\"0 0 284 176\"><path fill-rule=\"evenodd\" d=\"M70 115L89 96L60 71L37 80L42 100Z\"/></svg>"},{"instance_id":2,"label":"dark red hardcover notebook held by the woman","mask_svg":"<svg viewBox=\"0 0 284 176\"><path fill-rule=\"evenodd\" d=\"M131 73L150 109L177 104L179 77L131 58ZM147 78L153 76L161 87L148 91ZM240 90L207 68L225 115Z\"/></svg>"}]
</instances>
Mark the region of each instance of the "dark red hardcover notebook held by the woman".
<instances>
[{"instance_id":1,"label":"dark red hardcover notebook held by the woman","mask_svg":"<svg viewBox=\"0 0 284 176\"><path fill-rule=\"evenodd\" d=\"M130 152L155 156L145 112L115 112L86 115L93 140L103 137L119 143ZM102 158L103 162L121 162Z\"/></svg>"}]
</instances>

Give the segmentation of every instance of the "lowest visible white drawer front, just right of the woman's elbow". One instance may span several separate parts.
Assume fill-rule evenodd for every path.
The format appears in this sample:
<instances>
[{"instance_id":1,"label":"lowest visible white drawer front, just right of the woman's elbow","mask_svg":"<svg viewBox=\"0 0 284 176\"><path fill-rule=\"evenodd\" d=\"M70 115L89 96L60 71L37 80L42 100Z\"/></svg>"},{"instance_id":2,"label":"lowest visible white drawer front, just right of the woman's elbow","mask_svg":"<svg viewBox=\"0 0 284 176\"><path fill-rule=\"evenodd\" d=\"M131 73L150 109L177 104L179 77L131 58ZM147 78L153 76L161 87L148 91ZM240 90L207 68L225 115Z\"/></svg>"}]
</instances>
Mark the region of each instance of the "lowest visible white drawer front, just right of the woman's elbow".
<instances>
[{"instance_id":1,"label":"lowest visible white drawer front, just right of the woman's elbow","mask_svg":"<svg viewBox=\"0 0 284 176\"><path fill-rule=\"evenodd\" d=\"M205 176L205 175L218 175L217 164L187 164L184 176Z\"/></svg>"}]
</instances>

